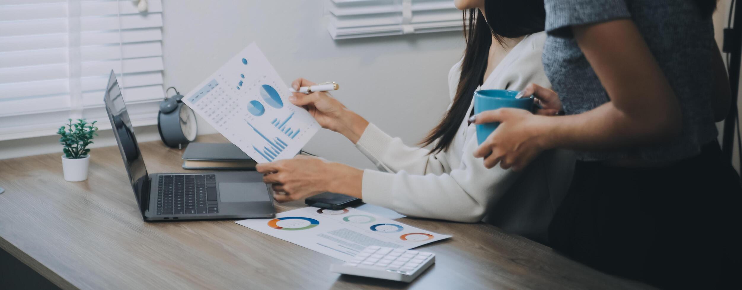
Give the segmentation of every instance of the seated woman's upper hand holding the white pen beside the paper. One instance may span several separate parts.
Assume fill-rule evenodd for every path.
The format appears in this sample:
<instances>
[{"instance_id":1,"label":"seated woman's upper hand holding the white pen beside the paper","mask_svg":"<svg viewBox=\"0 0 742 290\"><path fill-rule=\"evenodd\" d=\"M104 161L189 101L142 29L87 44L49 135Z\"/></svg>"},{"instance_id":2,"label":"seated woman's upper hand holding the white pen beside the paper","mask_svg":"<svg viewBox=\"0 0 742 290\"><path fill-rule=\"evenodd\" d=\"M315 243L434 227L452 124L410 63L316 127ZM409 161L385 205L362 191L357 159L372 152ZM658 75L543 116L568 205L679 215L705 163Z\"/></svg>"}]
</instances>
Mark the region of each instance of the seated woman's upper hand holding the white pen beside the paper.
<instances>
[{"instance_id":1,"label":"seated woman's upper hand holding the white pen beside the paper","mask_svg":"<svg viewBox=\"0 0 742 290\"><path fill-rule=\"evenodd\" d=\"M303 78L298 78L291 84L294 90L312 85L315 83ZM341 133L353 144L358 142L369 124L366 119L347 109L340 101L326 92L312 92L311 94L294 92L289 101L304 107L323 128Z\"/></svg>"}]
</instances>

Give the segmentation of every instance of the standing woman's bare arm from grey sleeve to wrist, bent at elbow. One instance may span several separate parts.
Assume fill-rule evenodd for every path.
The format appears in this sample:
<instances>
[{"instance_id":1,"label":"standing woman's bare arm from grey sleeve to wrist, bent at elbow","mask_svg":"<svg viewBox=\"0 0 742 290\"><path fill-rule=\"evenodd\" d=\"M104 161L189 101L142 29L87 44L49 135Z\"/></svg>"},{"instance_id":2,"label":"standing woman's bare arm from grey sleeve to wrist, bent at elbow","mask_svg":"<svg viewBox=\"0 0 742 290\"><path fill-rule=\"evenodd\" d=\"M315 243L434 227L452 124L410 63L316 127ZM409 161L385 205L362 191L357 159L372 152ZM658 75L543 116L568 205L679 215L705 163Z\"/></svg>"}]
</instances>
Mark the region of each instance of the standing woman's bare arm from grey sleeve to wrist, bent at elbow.
<instances>
[{"instance_id":1,"label":"standing woman's bare arm from grey sleeve to wrist, bent at elbow","mask_svg":"<svg viewBox=\"0 0 742 290\"><path fill-rule=\"evenodd\" d=\"M600 151L669 141L679 134L680 104L633 21L586 24L573 32L611 101L546 121L547 148Z\"/></svg>"}]
</instances>

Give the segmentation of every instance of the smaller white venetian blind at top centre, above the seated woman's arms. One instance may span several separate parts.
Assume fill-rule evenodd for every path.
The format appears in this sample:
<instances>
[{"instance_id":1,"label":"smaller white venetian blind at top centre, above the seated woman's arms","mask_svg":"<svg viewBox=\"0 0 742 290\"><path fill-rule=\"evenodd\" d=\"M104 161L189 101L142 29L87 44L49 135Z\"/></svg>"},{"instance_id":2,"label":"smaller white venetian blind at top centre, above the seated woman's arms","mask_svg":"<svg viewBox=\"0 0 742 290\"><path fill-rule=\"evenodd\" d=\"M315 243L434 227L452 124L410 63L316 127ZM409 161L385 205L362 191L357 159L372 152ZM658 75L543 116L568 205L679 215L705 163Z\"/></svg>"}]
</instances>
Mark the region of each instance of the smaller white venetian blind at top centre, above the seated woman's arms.
<instances>
[{"instance_id":1,"label":"smaller white venetian blind at top centre, above the seated woman's arms","mask_svg":"<svg viewBox=\"0 0 742 290\"><path fill-rule=\"evenodd\" d=\"M453 0L326 0L332 39L462 30Z\"/></svg>"}]
</instances>

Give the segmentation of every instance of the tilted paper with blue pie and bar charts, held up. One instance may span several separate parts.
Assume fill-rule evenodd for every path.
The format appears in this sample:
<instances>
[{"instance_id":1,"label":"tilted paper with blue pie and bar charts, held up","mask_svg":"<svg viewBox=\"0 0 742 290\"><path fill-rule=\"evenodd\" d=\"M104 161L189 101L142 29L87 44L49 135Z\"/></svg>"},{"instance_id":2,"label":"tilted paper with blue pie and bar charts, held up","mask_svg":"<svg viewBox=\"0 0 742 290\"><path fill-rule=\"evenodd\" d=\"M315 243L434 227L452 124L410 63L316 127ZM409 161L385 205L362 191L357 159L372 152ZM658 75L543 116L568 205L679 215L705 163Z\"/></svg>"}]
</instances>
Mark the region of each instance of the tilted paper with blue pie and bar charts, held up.
<instances>
[{"instance_id":1,"label":"tilted paper with blue pie and bar charts, held up","mask_svg":"<svg viewBox=\"0 0 742 290\"><path fill-rule=\"evenodd\" d=\"M258 163L293 158L320 128L255 43L188 92L183 103Z\"/></svg>"}]
</instances>

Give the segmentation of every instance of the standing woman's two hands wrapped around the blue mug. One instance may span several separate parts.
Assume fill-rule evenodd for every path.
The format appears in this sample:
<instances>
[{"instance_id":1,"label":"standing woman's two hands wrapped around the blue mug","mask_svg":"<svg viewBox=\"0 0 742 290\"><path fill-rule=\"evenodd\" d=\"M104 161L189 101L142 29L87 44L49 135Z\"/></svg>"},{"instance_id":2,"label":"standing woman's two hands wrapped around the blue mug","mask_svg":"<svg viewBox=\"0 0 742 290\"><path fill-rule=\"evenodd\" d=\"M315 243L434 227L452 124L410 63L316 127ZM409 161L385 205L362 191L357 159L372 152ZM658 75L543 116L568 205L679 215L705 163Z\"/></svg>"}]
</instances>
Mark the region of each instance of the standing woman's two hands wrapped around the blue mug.
<instances>
[{"instance_id":1,"label":"standing woman's two hands wrapped around the blue mug","mask_svg":"<svg viewBox=\"0 0 742 290\"><path fill-rule=\"evenodd\" d=\"M474 157L485 158L485 167L493 168L500 164L502 169L513 168L519 171L533 161L549 145L548 116L562 111L559 95L552 90L531 84L522 95L533 95L542 107L531 114L524 109L495 109L481 112L473 117L474 124L499 122L499 126L487 140L474 151Z\"/></svg>"}]
</instances>

